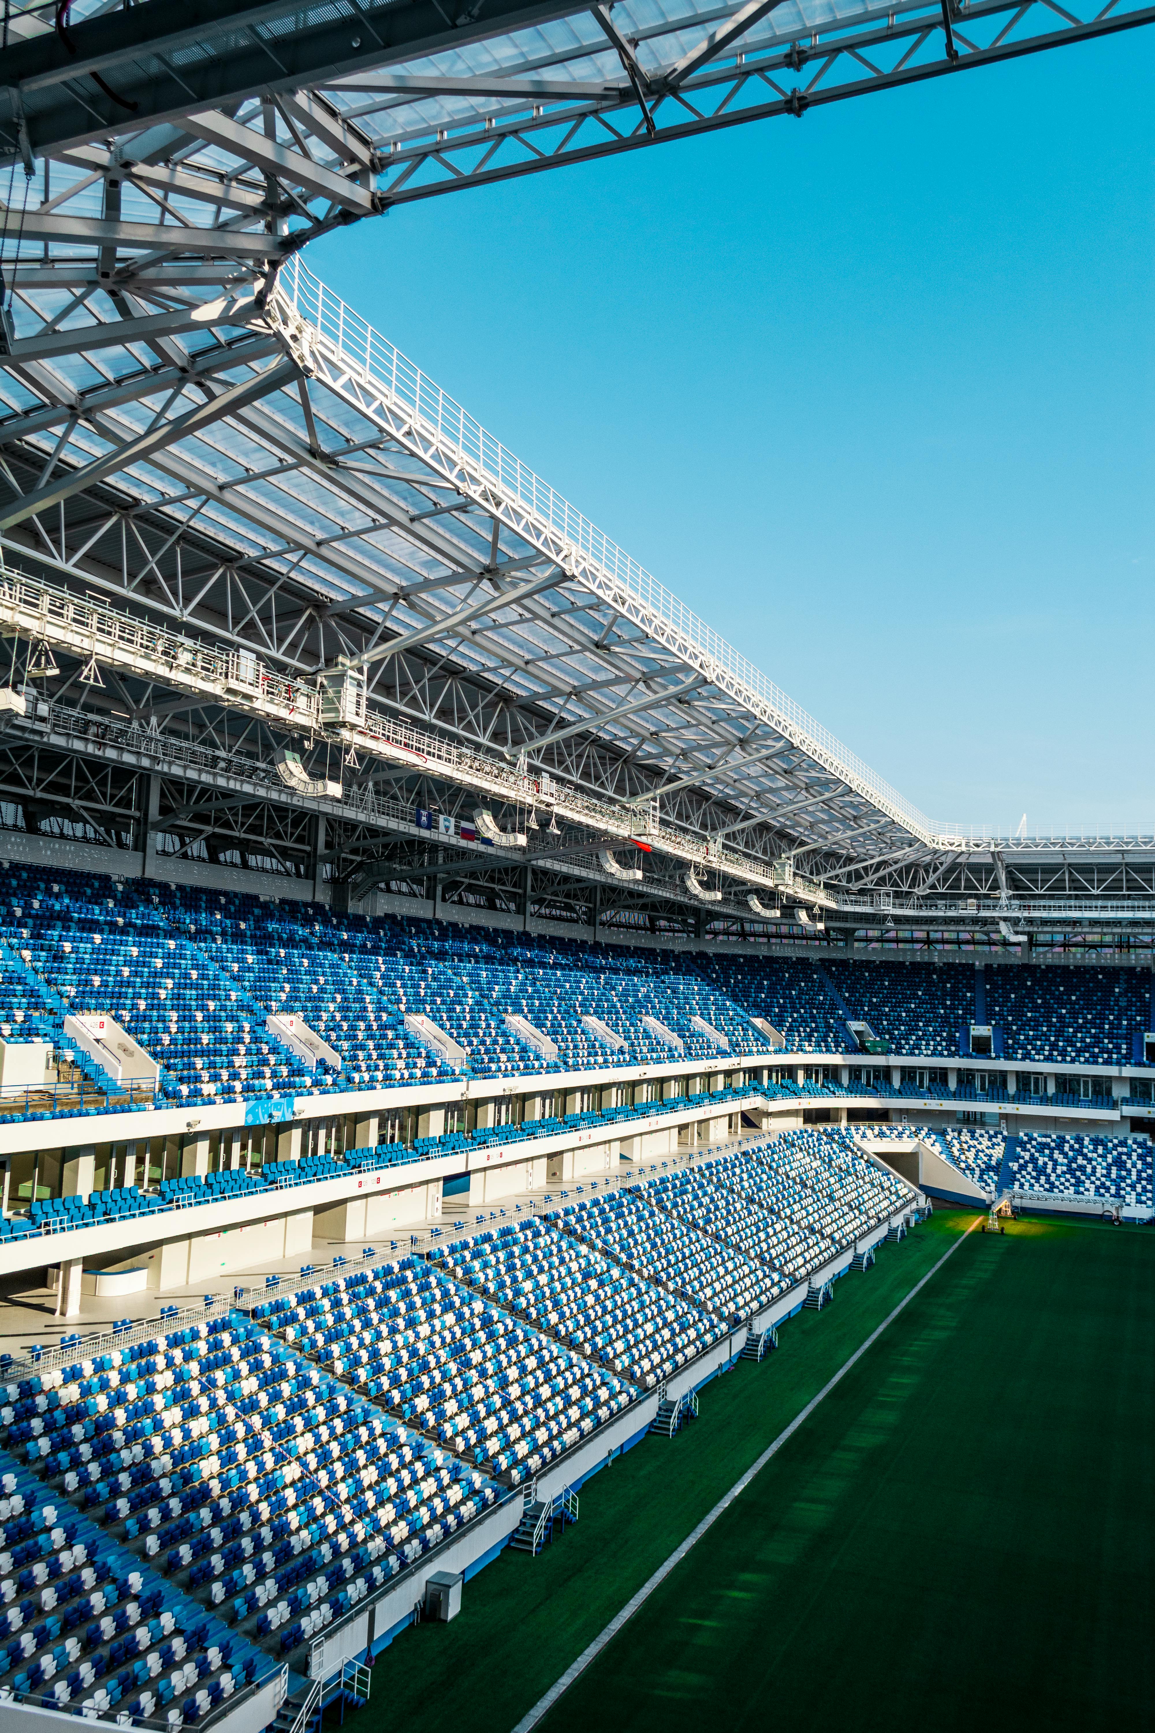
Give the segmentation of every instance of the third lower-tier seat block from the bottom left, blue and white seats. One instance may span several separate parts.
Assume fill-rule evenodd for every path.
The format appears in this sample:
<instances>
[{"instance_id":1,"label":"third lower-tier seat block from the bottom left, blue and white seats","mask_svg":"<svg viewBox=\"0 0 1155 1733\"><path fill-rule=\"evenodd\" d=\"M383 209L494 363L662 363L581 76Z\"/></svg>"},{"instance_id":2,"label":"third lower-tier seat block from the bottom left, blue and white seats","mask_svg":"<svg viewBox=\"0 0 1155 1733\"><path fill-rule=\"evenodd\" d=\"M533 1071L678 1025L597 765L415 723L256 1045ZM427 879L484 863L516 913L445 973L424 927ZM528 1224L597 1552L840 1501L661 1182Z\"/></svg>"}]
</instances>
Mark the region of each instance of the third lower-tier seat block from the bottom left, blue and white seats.
<instances>
[{"instance_id":1,"label":"third lower-tier seat block from the bottom left, blue and white seats","mask_svg":"<svg viewBox=\"0 0 1155 1733\"><path fill-rule=\"evenodd\" d=\"M620 1379L414 1258L267 1301L253 1315L513 1485L630 1400Z\"/></svg>"}]
</instances>

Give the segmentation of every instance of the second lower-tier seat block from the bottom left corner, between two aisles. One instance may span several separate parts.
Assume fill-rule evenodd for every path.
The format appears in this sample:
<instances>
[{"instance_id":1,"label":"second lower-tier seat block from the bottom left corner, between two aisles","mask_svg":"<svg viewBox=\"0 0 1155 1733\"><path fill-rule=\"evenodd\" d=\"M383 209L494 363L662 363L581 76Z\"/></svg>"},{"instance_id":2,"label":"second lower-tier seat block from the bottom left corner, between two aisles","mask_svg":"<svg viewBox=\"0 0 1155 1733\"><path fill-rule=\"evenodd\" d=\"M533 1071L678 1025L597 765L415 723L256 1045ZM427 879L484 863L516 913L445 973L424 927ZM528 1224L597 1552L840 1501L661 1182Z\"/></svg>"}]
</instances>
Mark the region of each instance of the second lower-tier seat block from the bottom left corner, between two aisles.
<instances>
[{"instance_id":1,"label":"second lower-tier seat block from the bottom left corner, between two aisles","mask_svg":"<svg viewBox=\"0 0 1155 1733\"><path fill-rule=\"evenodd\" d=\"M497 1497L239 1314L7 1395L9 1451L286 1653Z\"/></svg>"}]
</instances>

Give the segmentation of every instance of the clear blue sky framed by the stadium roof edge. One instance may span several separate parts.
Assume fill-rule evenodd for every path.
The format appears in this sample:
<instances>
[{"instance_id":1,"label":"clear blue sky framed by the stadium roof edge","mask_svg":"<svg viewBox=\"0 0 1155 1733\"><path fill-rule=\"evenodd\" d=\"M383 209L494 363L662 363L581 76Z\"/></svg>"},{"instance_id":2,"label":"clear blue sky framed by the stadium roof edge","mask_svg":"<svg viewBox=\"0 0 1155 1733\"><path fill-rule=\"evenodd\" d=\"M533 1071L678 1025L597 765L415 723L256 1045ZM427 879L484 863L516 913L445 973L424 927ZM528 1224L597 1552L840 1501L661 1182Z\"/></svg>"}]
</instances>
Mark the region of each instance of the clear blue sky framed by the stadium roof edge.
<instances>
[{"instance_id":1,"label":"clear blue sky framed by the stadium roof edge","mask_svg":"<svg viewBox=\"0 0 1155 1733\"><path fill-rule=\"evenodd\" d=\"M308 265L939 820L1155 830L1155 29Z\"/></svg>"}]
</instances>

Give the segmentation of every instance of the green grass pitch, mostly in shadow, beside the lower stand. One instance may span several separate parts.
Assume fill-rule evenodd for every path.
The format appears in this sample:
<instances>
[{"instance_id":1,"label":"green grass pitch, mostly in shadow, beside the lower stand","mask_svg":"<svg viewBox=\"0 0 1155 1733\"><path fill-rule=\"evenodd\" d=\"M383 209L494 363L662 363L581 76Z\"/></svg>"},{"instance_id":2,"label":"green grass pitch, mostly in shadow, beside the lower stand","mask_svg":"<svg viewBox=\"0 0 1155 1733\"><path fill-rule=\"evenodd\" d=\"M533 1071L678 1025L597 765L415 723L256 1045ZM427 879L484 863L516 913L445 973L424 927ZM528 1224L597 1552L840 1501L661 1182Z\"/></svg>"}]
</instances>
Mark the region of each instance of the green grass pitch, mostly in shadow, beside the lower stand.
<instances>
[{"instance_id":1,"label":"green grass pitch, mostly in shadow, beside the lower stand","mask_svg":"<svg viewBox=\"0 0 1155 1733\"><path fill-rule=\"evenodd\" d=\"M511 1733L973 1220L937 1215L405 1632L353 1733ZM542 1723L1152 1724L1155 1236L971 1234Z\"/></svg>"}]
</instances>

